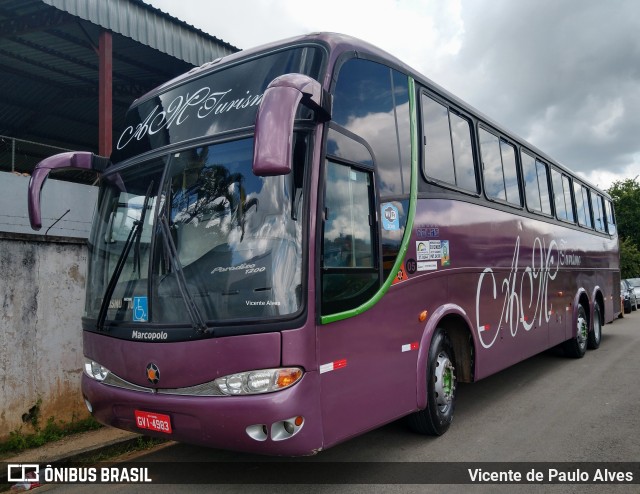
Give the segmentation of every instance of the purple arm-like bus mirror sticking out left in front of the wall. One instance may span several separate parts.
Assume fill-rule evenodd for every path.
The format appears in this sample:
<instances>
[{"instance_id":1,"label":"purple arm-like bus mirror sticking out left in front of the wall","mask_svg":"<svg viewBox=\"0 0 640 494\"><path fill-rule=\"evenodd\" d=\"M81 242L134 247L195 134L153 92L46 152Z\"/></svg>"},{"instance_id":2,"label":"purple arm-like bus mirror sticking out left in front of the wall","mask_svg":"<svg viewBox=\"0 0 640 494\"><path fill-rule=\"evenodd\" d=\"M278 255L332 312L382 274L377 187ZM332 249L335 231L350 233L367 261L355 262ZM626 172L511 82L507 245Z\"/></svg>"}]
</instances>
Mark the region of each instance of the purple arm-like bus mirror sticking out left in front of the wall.
<instances>
[{"instance_id":1,"label":"purple arm-like bus mirror sticking out left in front of the wall","mask_svg":"<svg viewBox=\"0 0 640 494\"><path fill-rule=\"evenodd\" d=\"M51 170L73 168L76 170L94 170L96 172L101 172L108 164L109 158L96 156L95 154L87 151L60 153L54 156L49 156L38 163L31 174L31 180L29 181L28 205L31 228L34 230L40 230L40 228L42 228L40 193L42 192L42 186L47 180Z\"/></svg>"}]
</instances>

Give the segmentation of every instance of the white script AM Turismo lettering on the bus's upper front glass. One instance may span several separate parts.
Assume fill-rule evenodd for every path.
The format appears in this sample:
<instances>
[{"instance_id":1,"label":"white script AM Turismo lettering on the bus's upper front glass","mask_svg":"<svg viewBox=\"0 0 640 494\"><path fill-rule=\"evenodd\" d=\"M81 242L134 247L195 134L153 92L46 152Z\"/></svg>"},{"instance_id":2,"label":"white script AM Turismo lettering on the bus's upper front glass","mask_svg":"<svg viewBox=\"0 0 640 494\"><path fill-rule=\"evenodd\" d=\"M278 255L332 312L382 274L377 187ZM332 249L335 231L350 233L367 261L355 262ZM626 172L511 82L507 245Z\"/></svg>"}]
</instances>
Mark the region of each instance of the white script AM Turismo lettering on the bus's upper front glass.
<instances>
[{"instance_id":1,"label":"white script AM Turismo lettering on the bus's upper front glass","mask_svg":"<svg viewBox=\"0 0 640 494\"><path fill-rule=\"evenodd\" d=\"M234 97L232 91L232 89L215 91L209 86L204 86L193 94L176 96L166 106L166 110L161 109L161 105L156 105L135 128L130 125L124 129L116 147L118 150L124 149L133 139L139 141L147 135L151 136L171 126L181 125L191 115L195 115L196 118L207 118L212 114L219 115L258 106L264 95L264 93L251 94L247 91L243 96L232 99Z\"/></svg>"}]
</instances>

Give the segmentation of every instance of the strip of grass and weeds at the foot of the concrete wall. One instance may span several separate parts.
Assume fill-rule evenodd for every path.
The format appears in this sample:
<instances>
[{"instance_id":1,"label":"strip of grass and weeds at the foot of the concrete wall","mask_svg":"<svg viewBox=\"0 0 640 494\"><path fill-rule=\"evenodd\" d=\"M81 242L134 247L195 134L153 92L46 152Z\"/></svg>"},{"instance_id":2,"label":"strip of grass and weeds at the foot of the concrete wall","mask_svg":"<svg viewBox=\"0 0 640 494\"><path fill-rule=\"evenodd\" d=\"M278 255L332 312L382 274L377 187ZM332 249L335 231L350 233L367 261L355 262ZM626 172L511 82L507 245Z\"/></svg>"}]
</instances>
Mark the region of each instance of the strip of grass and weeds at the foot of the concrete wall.
<instances>
[{"instance_id":1,"label":"strip of grass and weeds at the foot of the concrete wall","mask_svg":"<svg viewBox=\"0 0 640 494\"><path fill-rule=\"evenodd\" d=\"M49 417L44 427L40 426L37 420L30 421L35 429L34 432L24 432L22 427L9 433L9 439L0 443L0 456L10 456L21 451L38 448L44 444L59 441L63 437L80 432L96 430L102 427L96 419L88 417L86 419L71 420L65 422L56 421Z\"/></svg>"}]
</instances>

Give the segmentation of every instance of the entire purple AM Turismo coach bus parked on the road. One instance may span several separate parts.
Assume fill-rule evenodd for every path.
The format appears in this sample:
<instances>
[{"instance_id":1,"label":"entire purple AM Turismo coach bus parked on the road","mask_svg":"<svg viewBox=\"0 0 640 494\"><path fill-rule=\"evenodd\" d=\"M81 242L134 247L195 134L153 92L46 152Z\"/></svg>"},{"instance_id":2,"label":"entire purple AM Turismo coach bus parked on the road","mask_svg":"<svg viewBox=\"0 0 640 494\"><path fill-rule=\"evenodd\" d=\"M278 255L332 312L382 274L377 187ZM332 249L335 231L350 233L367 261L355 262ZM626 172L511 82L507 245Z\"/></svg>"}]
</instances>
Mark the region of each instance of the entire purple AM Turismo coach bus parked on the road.
<instances>
[{"instance_id":1,"label":"entire purple AM Turismo coach bus parked on the road","mask_svg":"<svg viewBox=\"0 0 640 494\"><path fill-rule=\"evenodd\" d=\"M598 348L620 312L610 197L383 51L313 34L131 106L100 174L82 393L100 422L307 455L457 383Z\"/></svg>"}]
</instances>

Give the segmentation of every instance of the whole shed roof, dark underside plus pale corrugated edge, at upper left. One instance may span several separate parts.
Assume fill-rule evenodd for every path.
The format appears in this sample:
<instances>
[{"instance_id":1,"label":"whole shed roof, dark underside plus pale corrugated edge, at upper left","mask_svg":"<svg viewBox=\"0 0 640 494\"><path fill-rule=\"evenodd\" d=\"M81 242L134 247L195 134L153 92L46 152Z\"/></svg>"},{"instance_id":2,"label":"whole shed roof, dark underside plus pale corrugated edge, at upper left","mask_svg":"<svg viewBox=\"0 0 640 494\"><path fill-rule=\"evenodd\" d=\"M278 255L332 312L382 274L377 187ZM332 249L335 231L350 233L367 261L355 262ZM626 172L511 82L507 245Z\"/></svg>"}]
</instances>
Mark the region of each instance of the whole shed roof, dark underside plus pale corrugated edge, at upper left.
<instances>
[{"instance_id":1,"label":"whole shed roof, dark underside plus pale corrugated edge, at upper left","mask_svg":"<svg viewBox=\"0 0 640 494\"><path fill-rule=\"evenodd\" d=\"M237 51L141 0L0 0L0 136L98 152L103 30L113 33L114 135L134 99ZM17 163L12 147L0 145L0 170L48 155Z\"/></svg>"}]
</instances>

